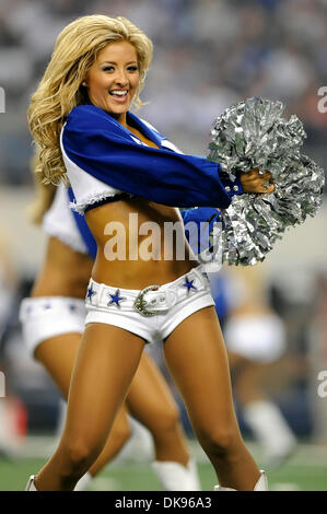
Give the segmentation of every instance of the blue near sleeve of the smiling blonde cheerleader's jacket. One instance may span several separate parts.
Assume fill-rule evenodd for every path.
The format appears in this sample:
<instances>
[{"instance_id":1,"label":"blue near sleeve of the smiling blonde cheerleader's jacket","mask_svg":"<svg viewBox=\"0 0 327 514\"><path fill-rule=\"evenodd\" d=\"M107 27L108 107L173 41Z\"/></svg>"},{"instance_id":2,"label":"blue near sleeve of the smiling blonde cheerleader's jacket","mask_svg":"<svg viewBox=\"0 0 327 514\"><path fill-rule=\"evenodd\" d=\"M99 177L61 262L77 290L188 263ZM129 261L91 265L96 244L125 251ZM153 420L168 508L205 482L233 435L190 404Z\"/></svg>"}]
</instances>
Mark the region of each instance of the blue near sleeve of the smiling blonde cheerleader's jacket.
<instances>
[{"instance_id":1,"label":"blue near sleeve of the smiling blonde cheerleader's jacket","mask_svg":"<svg viewBox=\"0 0 327 514\"><path fill-rule=\"evenodd\" d=\"M91 105L70 113L62 145L67 156L95 178L157 203L227 208L236 194L234 183L221 180L218 163L143 145L107 113Z\"/></svg>"}]
</instances>

